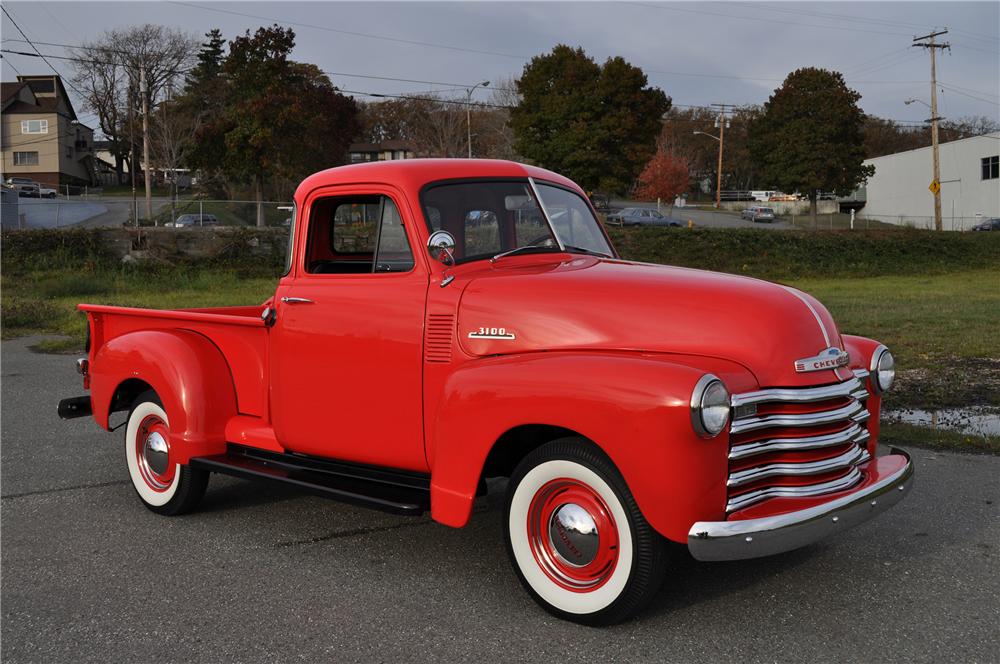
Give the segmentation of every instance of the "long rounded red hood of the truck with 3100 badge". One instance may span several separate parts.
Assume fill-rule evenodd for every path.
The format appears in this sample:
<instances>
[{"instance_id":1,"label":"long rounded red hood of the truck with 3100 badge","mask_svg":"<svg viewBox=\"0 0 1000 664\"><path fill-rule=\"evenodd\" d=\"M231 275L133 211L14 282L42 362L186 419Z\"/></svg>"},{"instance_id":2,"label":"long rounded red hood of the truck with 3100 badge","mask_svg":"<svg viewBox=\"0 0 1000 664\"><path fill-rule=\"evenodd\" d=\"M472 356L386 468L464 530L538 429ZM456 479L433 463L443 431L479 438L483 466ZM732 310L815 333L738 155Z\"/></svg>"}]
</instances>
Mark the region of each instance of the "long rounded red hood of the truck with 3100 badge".
<instances>
[{"instance_id":1,"label":"long rounded red hood of the truck with 3100 badge","mask_svg":"<svg viewBox=\"0 0 1000 664\"><path fill-rule=\"evenodd\" d=\"M580 349L701 355L745 366L762 386L849 377L845 369L796 372L796 360L844 345L826 308L793 288L593 257L507 260L469 275L458 331L471 355Z\"/></svg>"}]
</instances>

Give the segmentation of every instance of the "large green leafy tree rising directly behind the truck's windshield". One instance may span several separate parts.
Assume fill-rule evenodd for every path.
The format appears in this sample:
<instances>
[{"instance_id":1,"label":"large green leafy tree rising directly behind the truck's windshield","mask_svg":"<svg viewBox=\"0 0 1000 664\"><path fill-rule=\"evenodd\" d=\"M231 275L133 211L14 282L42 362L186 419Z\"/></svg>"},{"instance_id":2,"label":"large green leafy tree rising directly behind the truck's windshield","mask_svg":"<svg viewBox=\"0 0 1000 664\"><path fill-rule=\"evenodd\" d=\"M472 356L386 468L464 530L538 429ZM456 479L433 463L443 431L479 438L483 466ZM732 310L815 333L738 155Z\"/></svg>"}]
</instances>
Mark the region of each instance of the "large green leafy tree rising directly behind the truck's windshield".
<instances>
[{"instance_id":1,"label":"large green leafy tree rising directly behind the truck's windshield","mask_svg":"<svg viewBox=\"0 0 1000 664\"><path fill-rule=\"evenodd\" d=\"M620 57L598 65L583 49L558 45L532 58L511 111L515 149L585 189L623 192L655 151L670 108L662 90Z\"/></svg>"}]
</instances>

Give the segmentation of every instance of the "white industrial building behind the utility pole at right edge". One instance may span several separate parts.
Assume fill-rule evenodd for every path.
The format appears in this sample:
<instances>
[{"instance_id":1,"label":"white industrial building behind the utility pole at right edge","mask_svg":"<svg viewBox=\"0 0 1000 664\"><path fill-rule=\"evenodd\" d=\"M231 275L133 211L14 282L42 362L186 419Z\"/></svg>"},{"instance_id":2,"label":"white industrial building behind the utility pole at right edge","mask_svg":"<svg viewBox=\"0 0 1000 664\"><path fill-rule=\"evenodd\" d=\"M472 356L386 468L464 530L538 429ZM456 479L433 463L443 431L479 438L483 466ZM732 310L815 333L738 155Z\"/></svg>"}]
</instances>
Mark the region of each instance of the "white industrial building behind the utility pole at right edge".
<instances>
[{"instance_id":1,"label":"white industrial building behind the utility pole at right edge","mask_svg":"<svg viewBox=\"0 0 1000 664\"><path fill-rule=\"evenodd\" d=\"M941 143L941 217L945 230L966 230L1000 217L1000 132ZM860 216L891 224L934 227L931 148L868 159L875 167ZM862 192L859 192L861 194Z\"/></svg>"}]
</instances>

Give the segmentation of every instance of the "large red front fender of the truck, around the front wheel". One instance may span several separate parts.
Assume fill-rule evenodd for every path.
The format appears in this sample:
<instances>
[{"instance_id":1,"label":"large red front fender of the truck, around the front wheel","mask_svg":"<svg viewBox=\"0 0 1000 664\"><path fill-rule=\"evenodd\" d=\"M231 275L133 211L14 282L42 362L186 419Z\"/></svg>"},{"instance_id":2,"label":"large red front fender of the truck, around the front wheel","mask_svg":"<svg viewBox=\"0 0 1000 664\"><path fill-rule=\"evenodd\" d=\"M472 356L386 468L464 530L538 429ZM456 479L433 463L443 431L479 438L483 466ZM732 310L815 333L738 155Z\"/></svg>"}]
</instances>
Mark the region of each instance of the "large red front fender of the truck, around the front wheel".
<instances>
[{"instance_id":1,"label":"large red front fender of the truck, around the front wheel","mask_svg":"<svg viewBox=\"0 0 1000 664\"><path fill-rule=\"evenodd\" d=\"M497 439L544 424L597 444L653 528L686 541L694 521L724 516L727 434L699 438L690 419L691 392L705 373L639 353L532 353L459 368L444 385L429 438L432 517L465 525Z\"/></svg>"}]
</instances>

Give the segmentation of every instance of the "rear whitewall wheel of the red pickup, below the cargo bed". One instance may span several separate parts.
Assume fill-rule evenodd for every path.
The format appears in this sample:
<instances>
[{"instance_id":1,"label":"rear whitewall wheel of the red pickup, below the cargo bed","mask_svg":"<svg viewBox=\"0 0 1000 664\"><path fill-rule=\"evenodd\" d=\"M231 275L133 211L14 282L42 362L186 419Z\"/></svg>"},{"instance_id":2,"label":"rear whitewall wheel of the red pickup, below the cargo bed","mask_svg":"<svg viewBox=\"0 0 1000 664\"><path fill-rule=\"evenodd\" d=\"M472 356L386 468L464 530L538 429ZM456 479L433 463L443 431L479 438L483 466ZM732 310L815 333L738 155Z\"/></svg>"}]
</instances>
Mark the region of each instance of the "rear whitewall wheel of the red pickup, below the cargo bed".
<instances>
[{"instance_id":1,"label":"rear whitewall wheel of the red pickup, below the cargo bed","mask_svg":"<svg viewBox=\"0 0 1000 664\"><path fill-rule=\"evenodd\" d=\"M132 402L125 428L125 461L132 486L153 512L174 516L194 509L208 486L208 473L174 460L170 420L156 392Z\"/></svg>"}]
</instances>

